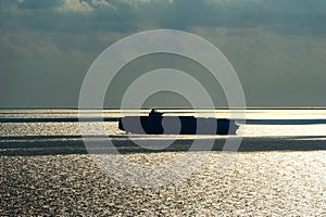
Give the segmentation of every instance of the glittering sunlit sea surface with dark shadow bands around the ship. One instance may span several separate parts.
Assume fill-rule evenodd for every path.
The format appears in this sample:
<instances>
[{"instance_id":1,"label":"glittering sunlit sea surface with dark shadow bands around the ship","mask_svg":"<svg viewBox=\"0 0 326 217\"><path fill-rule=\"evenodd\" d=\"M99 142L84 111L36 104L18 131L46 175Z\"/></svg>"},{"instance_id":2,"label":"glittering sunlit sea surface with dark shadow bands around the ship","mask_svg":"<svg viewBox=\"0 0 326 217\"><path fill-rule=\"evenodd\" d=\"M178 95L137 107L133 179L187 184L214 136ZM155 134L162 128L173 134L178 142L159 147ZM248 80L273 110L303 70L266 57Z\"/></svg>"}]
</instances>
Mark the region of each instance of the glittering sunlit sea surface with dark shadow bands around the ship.
<instances>
[{"instance_id":1,"label":"glittering sunlit sea surface with dark shadow bands around the ship","mask_svg":"<svg viewBox=\"0 0 326 217\"><path fill-rule=\"evenodd\" d=\"M0 110L1 216L326 216L326 110L164 112L240 128L127 135L120 111L84 111L82 137L77 110Z\"/></svg>"}]
</instances>

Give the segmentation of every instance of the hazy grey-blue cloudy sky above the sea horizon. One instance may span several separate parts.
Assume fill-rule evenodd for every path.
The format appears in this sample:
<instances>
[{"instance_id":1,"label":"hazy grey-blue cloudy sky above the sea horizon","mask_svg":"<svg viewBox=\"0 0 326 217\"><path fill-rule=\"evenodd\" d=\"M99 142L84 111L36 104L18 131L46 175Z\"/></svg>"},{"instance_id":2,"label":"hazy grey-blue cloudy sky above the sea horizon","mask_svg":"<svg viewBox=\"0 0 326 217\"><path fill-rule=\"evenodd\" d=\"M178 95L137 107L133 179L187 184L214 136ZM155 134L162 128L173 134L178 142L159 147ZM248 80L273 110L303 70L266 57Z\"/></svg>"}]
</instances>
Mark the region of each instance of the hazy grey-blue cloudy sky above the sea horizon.
<instances>
[{"instance_id":1,"label":"hazy grey-blue cloudy sky above the sea horizon","mask_svg":"<svg viewBox=\"0 0 326 217\"><path fill-rule=\"evenodd\" d=\"M325 106L325 0L0 0L0 107L77 107L83 79L105 48L160 28L216 46L249 106ZM216 106L226 105L199 65L156 55L126 66L105 106L118 106L145 65L189 71L216 92ZM187 104L172 93L148 104L159 102Z\"/></svg>"}]
</instances>

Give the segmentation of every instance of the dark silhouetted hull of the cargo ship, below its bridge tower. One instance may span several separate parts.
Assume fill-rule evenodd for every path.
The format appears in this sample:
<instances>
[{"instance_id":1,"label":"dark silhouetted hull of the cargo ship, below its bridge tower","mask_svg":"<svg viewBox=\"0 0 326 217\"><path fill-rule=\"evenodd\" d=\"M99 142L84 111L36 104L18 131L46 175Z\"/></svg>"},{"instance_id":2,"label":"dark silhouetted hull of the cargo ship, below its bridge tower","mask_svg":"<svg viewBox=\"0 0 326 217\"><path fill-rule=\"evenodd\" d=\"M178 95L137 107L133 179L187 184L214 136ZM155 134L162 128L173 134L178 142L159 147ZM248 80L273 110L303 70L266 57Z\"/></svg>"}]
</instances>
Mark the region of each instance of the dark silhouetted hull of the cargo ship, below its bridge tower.
<instances>
[{"instance_id":1,"label":"dark silhouetted hull of the cargo ship, below its bridge tower","mask_svg":"<svg viewBox=\"0 0 326 217\"><path fill-rule=\"evenodd\" d=\"M118 119L118 129L140 135L235 135L238 128L234 119L226 118L126 116Z\"/></svg>"}]
</instances>

